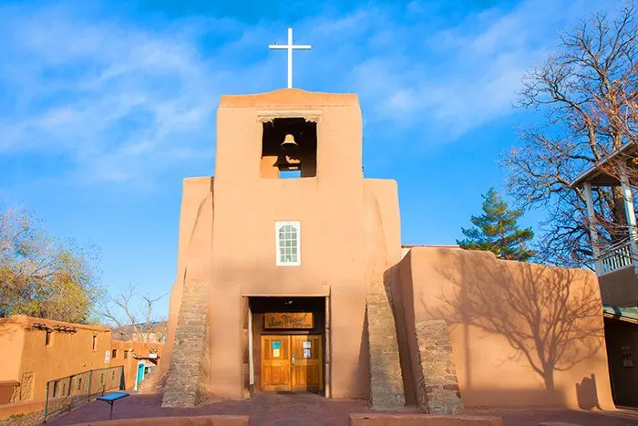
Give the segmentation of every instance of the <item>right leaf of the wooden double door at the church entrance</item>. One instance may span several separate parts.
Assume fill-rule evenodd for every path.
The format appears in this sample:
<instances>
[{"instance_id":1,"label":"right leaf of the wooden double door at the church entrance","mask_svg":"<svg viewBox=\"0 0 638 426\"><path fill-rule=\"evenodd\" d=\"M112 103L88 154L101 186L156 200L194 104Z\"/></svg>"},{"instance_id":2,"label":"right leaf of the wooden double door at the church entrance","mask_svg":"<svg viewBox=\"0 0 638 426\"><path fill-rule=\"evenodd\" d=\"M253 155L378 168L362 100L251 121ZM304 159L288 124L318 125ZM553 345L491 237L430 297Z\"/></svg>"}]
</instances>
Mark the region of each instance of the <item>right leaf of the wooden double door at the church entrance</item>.
<instances>
[{"instance_id":1,"label":"right leaf of the wooden double door at the church entrance","mask_svg":"<svg viewBox=\"0 0 638 426\"><path fill-rule=\"evenodd\" d=\"M324 389L324 363L321 336L304 335L292 338L292 389Z\"/></svg>"}]
</instances>

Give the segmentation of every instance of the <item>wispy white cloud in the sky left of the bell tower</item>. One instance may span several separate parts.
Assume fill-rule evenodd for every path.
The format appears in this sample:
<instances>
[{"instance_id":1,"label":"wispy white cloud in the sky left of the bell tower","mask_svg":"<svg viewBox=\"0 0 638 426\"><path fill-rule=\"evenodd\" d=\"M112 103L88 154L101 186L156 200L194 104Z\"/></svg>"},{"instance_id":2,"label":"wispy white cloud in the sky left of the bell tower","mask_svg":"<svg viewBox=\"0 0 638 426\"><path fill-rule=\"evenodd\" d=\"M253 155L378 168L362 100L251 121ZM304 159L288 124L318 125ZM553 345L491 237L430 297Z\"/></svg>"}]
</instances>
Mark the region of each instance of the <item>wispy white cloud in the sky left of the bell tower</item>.
<instances>
[{"instance_id":1,"label":"wispy white cloud in the sky left of the bell tower","mask_svg":"<svg viewBox=\"0 0 638 426\"><path fill-rule=\"evenodd\" d=\"M149 177L184 146L211 158L216 82L196 40L68 9L10 12L0 153L62 152L77 179L116 182Z\"/></svg>"}]
</instances>

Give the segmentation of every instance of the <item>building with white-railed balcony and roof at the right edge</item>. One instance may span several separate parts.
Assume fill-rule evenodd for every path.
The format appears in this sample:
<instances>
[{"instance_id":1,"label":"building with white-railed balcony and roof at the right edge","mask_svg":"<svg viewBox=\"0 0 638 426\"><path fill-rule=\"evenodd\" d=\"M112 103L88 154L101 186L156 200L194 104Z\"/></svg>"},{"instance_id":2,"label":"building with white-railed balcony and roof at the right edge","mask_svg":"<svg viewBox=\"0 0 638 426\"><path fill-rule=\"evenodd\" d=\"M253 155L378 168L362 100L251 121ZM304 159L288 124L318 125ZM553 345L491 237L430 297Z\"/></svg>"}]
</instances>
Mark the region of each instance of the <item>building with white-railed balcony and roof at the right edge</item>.
<instances>
[{"instance_id":1,"label":"building with white-railed balcony and roof at the right edge","mask_svg":"<svg viewBox=\"0 0 638 426\"><path fill-rule=\"evenodd\" d=\"M619 406L638 407L638 228L633 203L638 150L629 141L582 171L573 182L587 204L593 268L598 275L604 306L605 340L611 372L612 394ZM623 194L625 225L612 242L603 240L594 190L614 188Z\"/></svg>"}]
</instances>

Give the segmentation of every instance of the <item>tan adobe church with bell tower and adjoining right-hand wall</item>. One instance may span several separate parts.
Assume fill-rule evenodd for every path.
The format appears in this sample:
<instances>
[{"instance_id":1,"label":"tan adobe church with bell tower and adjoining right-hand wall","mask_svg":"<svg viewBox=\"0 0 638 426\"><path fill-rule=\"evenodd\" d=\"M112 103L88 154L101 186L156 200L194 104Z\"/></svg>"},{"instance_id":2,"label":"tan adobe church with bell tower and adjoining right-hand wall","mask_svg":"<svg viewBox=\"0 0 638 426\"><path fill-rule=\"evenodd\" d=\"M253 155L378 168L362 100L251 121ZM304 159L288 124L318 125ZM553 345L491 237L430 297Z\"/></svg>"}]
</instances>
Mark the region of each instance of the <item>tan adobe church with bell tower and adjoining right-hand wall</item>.
<instances>
[{"instance_id":1,"label":"tan adobe church with bell tower and adjoining right-hand wall","mask_svg":"<svg viewBox=\"0 0 638 426\"><path fill-rule=\"evenodd\" d=\"M396 182L365 179L362 146L355 94L221 97L216 174L183 182L162 405L312 391L430 413L612 407L596 276L402 255Z\"/></svg>"}]
</instances>

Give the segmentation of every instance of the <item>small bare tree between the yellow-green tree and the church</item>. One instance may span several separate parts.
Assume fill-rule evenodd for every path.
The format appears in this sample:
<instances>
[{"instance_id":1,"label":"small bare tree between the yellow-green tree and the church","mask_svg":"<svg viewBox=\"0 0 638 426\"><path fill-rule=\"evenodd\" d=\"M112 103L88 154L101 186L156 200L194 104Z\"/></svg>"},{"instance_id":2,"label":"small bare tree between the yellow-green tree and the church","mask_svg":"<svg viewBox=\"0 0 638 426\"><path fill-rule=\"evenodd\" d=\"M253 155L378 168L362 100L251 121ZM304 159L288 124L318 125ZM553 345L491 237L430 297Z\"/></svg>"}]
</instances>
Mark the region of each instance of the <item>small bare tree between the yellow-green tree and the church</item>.
<instances>
[{"instance_id":1,"label":"small bare tree between the yellow-green tree and the church","mask_svg":"<svg viewBox=\"0 0 638 426\"><path fill-rule=\"evenodd\" d=\"M166 336L166 321L155 317L153 308L164 296L138 295L136 287L129 284L108 297L100 314L116 326L114 338L120 334L124 340L157 341Z\"/></svg>"}]
</instances>

